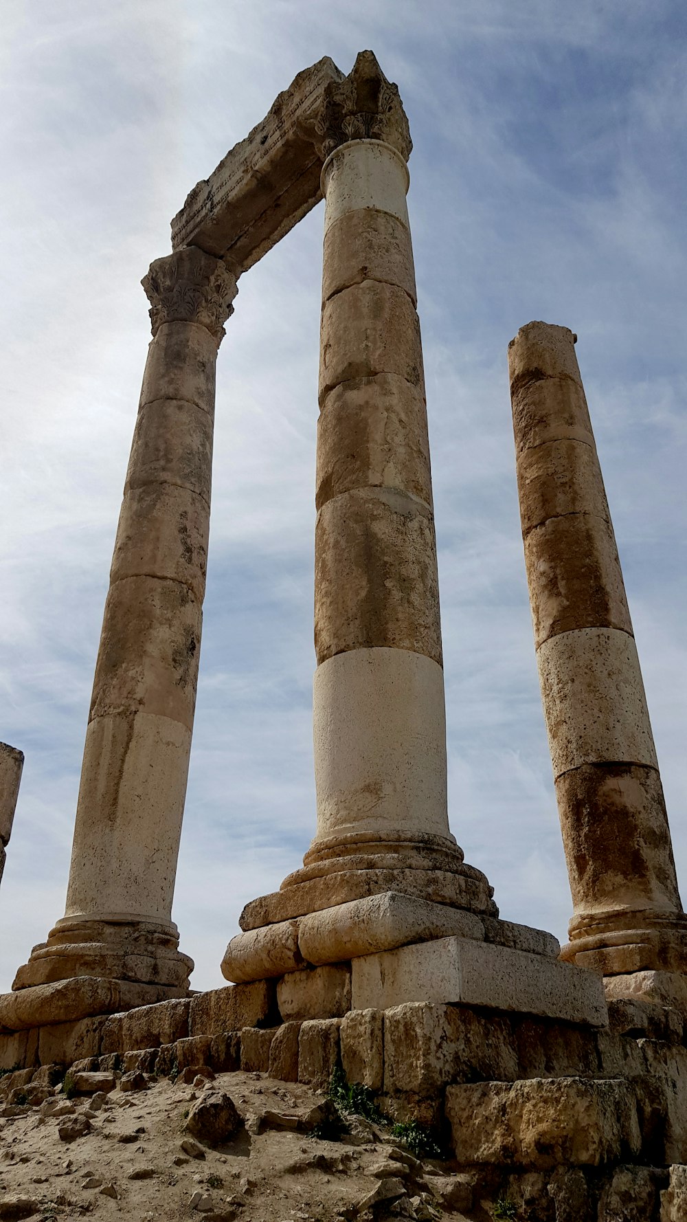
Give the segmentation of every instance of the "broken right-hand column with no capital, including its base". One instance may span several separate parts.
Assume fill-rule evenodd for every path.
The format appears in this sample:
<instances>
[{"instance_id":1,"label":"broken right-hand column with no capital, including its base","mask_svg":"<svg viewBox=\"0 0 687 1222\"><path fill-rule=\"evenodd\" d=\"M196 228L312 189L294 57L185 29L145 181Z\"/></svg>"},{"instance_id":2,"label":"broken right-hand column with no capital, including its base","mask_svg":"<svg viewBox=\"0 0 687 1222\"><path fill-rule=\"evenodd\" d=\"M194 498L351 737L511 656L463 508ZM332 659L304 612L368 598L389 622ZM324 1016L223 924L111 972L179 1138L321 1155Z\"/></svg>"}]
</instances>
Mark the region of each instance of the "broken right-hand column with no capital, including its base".
<instances>
[{"instance_id":1,"label":"broken right-hand column with no capital, including its base","mask_svg":"<svg viewBox=\"0 0 687 1222\"><path fill-rule=\"evenodd\" d=\"M686 919L614 530L565 326L509 347L542 701L573 901L564 958L682 971Z\"/></svg>"}]
</instances>

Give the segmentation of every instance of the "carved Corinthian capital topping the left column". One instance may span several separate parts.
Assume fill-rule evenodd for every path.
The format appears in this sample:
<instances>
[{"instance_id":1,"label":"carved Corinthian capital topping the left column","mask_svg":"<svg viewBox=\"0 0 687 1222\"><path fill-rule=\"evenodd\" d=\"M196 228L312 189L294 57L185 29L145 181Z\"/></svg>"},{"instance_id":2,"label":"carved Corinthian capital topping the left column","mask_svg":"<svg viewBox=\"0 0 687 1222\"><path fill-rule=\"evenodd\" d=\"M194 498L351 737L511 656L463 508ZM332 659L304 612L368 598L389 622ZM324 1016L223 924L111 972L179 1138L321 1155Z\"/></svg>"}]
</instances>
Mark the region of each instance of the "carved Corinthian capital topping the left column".
<instances>
[{"instance_id":1,"label":"carved Corinthian capital topping the left column","mask_svg":"<svg viewBox=\"0 0 687 1222\"><path fill-rule=\"evenodd\" d=\"M141 281L150 302L153 335L163 323L199 323L221 342L222 323L233 314L236 277L221 259L197 246L186 246L154 259Z\"/></svg>"}]
</instances>

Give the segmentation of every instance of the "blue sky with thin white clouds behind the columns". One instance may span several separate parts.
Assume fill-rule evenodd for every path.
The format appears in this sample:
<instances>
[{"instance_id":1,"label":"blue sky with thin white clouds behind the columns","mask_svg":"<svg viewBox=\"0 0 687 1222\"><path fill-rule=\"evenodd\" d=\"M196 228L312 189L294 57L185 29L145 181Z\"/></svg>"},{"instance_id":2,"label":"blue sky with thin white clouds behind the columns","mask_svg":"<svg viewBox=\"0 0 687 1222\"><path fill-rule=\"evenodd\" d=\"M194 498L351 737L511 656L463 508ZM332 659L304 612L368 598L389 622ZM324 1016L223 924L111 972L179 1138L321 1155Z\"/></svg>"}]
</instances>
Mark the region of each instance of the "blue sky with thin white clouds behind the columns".
<instances>
[{"instance_id":1,"label":"blue sky with thin white clouds behind the columns","mask_svg":"<svg viewBox=\"0 0 687 1222\"><path fill-rule=\"evenodd\" d=\"M64 914L141 376L141 277L188 191L323 55L370 48L414 143L449 816L501 915L566 937L507 343L570 326L687 892L683 0L0 0L0 739L26 764L0 991ZM172 916L219 963L314 835L323 205L240 280L218 360L196 728ZM687 895L685 895L687 899Z\"/></svg>"}]
</instances>

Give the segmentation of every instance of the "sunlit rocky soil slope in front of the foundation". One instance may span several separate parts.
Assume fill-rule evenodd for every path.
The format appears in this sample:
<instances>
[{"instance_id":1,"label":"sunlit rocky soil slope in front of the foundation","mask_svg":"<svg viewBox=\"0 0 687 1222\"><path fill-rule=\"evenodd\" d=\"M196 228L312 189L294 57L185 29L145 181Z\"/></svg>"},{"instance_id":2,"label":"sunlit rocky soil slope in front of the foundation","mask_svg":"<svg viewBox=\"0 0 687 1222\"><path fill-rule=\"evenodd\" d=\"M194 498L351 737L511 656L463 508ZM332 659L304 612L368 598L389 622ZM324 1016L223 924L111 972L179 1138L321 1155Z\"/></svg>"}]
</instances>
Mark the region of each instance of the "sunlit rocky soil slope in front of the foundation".
<instances>
[{"instance_id":1,"label":"sunlit rocky soil slope in front of the foundation","mask_svg":"<svg viewBox=\"0 0 687 1222\"><path fill-rule=\"evenodd\" d=\"M0 1220L465 1222L463 1177L418 1161L383 1125L351 1117L341 1132L332 1105L301 1084L75 1073L68 1099L40 1073L12 1081L0 1107Z\"/></svg>"}]
</instances>

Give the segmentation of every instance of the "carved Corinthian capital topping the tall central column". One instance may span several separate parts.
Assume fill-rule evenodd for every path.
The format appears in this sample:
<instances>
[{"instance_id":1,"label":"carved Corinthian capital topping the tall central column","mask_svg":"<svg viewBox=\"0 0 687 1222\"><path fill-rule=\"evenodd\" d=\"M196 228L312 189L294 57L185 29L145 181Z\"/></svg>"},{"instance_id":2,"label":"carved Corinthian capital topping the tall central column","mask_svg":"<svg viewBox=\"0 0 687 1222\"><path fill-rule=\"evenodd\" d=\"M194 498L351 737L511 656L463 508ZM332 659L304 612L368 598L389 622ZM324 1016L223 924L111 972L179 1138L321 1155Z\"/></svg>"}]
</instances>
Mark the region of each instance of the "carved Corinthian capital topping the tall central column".
<instances>
[{"instance_id":1,"label":"carved Corinthian capital topping the tall central column","mask_svg":"<svg viewBox=\"0 0 687 1222\"><path fill-rule=\"evenodd\" d=\"M385 141L406 161L413 147L399 87L386 79L373 51L361 51L344 81L326 84L320 106L301 126L323 160L347 141Z\"/></svg>"}]
</instances>

